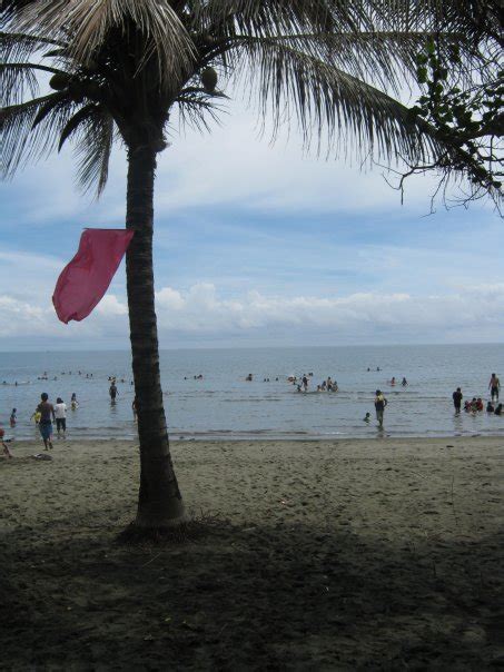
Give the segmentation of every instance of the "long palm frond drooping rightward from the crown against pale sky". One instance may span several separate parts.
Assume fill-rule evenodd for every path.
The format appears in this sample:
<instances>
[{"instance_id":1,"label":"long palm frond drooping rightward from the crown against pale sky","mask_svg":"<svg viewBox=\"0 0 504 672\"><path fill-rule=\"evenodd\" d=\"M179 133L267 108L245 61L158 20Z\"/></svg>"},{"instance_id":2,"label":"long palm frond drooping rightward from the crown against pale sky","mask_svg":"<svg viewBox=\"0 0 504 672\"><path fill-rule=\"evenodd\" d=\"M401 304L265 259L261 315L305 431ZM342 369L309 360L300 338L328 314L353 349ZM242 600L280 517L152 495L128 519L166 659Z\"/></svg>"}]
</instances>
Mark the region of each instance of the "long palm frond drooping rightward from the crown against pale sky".
<instances>
[{"instance_id":1,"label":"long palm frond drooping rightward from the crown against pale sky","mask_svg":"<svg viewBox=\"0 0 504 672\"><path fill-rule=\"evenodd\" d=\"M409 121L407 108L383 91L326 62L270 40L251 40L236 78L256 90L259 116L273 117L273 138L297 120L306 148L320 138L335 146L352 134L357 151L376 150L379 158L418 159L431 148Z\"/></svg>"}]
</instances>

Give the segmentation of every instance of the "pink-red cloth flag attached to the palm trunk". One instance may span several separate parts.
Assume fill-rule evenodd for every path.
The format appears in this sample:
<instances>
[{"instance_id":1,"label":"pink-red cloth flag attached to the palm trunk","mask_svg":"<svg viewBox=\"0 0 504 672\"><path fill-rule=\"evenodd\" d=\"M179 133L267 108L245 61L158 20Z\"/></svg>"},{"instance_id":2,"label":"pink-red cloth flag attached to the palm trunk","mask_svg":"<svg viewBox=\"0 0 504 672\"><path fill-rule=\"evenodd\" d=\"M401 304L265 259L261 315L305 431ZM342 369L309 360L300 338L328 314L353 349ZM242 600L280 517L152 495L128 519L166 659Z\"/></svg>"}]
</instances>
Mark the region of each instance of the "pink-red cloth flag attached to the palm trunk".
<instances>
[{"instance_id":1,"label":"pink-red cloth flag attached to the palm trunk","mask_svg":"<svg viewBox=\"0 0 504 672\"><path fill-rule=\"evenodd\" d=\"M77 255L61 271L52 295L61 322L80 322L99 304L132 236L126 229L85 229Z\"/></svg>"}]
</instances>

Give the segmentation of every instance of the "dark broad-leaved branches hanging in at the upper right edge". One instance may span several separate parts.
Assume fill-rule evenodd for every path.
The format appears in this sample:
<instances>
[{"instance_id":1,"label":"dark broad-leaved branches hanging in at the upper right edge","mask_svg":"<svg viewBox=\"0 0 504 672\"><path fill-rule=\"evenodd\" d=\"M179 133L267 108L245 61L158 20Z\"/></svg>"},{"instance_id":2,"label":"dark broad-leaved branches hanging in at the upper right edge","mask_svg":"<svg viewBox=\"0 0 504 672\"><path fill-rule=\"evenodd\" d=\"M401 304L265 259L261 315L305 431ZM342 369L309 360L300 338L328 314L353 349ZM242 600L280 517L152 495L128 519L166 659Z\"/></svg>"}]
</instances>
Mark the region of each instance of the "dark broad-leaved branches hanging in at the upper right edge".
<instances>
[{"instance_id":1,"label":"dark broad-leaved branches hanging in at the upper right edge","mask_svg":"<svg viewBox=\"0 0 504 672\"><path fill-rule=\"evenodd\" d=\"M412 119L425 125L439 141L441 151L429 162L409 165L401 178L414 174L436 172L445 205L468 205L490 198L497 210L503 204L504 178L504 63L502 45L487 36L484 52L475 60L475 76L463 76L462 55L457 45L446 53L436 40L428 40L417 57L417 81L423 93L411 108ZM462 75L461 75L462 73ZM448 186L458 185L458 196Z\"/></svg>"}]
</instances>

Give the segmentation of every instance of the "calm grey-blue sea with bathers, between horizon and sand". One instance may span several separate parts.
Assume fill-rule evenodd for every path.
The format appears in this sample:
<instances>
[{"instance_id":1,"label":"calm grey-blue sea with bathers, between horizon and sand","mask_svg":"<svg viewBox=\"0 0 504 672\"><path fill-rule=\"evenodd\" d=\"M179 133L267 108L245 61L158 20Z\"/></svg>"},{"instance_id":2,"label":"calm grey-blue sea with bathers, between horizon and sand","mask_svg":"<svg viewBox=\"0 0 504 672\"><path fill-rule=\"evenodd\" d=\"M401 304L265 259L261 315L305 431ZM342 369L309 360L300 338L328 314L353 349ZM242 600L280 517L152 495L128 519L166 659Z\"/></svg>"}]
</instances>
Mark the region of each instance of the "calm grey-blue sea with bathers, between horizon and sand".
<instances>
[{"instance_id":1,"label":"calm grey-blue sea with bathers, between horizon and sand","mask_svg":"<svg viewBox=\"0 0 504 672\"><path fill-rule=\"evenodd\" d=\"M504 436L504 416L456 417L452 404L456 387L464 398L486 402L493 372L504 385L502 344L179 349L162 350L160 360L172 438ZM39 379L46 373L48 379ZM247 382L250 373L253 382ZM287 382L308 373L307 394ZM109 376L118 379L115 405ZM339 391L315 392L328 376ZM387 384L393 376L395 387ZM131 378L128 352L1 353L0 423L16 439L38 437L30 416L40 394L47 392L55 403L60 396L70 407L76 393L79 407L68 412L68 438L135 438ZM377 388L388 399L383 431L373 405ZM18 416L13 429L12 408ZM363 422L366 412L369 424Z\"/></svg>"}]
</instances>

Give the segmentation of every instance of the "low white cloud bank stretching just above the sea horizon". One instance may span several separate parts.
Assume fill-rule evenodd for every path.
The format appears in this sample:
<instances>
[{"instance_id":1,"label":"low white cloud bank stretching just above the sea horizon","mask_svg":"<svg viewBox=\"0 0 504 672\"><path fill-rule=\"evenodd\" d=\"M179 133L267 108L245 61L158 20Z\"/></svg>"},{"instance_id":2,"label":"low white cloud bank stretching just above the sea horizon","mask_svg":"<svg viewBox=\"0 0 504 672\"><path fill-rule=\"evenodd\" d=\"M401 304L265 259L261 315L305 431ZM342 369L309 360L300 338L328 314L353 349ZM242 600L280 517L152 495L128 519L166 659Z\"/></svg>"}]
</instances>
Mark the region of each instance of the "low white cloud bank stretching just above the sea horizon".
<instances>
[{"instance_id":1,"label":"low white cloud bank stretching just above the sea horizon","mask_svg":"<svg viewBox=\"0 0 504 672\"><path fill-rule=\"evenodd\" d=\"M186 344L205 344L229 336L256 338L287 333L313 342L314 334L332 333L353 343L375 340L408 343L418 334L437 336L473 335L490 340L504 333L504 284L481 285L462 293L412 296L405 293L355 293L348 296L266 296L251 290L234 299L219 297L213 284L197 284L187 291L164 287L157 295L157 315L164 338ZM2 334L7 343L17 336L40 343L42 337L68 339L122 339L127 344L127 305L123 298L107 295L95 313L82 323L61 325L52 308L0 296ZM175 338L175 342L174 342Z\"/></svg>"}]
</instances>

